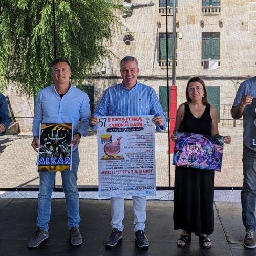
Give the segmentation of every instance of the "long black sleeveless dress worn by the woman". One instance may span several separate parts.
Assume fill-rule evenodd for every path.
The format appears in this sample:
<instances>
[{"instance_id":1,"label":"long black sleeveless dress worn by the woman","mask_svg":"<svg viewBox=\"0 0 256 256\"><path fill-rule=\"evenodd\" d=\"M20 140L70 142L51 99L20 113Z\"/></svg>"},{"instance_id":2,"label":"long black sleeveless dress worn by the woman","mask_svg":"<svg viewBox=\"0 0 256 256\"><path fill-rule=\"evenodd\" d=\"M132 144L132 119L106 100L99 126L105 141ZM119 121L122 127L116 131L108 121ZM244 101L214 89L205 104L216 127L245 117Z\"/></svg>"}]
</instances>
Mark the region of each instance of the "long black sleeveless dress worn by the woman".
<instances>
[{"instance_id":1,"label":"long black sleeveless dress worn by the woman","mask_svg":"<svg viewBox=\"0 0 256 256\"><path fill-rule=\"evenodd\" d=\"M210 104L196 118L185 104L181 132L211 135ZM174 185L174 229L187 233L212 234L214 231L214 172L176 166Z\"/></svg>"}]
</instances>

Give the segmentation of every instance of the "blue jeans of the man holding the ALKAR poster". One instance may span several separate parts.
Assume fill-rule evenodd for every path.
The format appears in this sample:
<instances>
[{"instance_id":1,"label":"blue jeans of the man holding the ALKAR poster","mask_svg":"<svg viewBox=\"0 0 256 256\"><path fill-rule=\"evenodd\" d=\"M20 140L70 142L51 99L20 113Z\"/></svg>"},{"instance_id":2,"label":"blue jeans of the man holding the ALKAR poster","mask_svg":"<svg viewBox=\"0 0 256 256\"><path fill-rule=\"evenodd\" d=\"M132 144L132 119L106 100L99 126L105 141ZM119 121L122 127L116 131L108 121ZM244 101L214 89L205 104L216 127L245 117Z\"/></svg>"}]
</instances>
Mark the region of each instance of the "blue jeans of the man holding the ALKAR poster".
<instances>
[{"instance_id":1,"label":"blue jeans of the man holding the ALKAR poster","mask_svg":"<svg viewBox=\"0 0 256 256\"><path fill-rule=\"evenodd\" d=\"M77 170L79 165L78 149L73 151L72 169L70 172L61 172L62 186L66 198L68 214L68 228L79 227L79 194L77 189ZM48 231L48 223L51 216L52 190L56 172L39 172L40 187L37 209L37 227Z\"/></svg>"}]
</instances>

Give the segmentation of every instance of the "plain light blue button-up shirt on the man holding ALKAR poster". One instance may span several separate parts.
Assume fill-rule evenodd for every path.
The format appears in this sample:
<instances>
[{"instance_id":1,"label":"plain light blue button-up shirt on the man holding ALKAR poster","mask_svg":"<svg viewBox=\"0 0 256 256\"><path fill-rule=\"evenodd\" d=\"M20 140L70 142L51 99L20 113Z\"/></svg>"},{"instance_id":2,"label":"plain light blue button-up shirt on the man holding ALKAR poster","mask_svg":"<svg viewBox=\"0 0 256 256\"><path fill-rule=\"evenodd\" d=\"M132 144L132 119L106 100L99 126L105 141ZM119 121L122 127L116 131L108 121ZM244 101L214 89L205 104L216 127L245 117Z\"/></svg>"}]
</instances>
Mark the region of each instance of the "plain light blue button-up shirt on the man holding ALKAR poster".
<instances>
[{"instance_id":1,"label":"plain light blue button-up shirt on the man holding ALKAR poster","mask_svg":"<svg viewBox=\"0 0 256 256\"><path fill-rule=\"evenodd\" d=\"M67 93L61 98L52 84L37 94L33 135L39 135L40 123L73 123L73 134L79 132L86 136L90 116L89 97L85 92L71 84ZM82 124L78 127L80 118Z\"/></svg>"}]
</instances>

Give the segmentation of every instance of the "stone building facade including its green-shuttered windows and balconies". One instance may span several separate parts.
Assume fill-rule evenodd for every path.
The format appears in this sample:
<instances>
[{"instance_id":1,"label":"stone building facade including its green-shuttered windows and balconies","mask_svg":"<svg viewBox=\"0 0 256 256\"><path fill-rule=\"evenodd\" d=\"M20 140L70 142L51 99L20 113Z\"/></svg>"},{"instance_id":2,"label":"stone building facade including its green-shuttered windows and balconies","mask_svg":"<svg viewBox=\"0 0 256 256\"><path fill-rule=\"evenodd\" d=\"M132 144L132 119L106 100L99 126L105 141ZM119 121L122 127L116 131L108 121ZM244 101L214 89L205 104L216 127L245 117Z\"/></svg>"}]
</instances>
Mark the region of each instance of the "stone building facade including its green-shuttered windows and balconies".
<instances>
[{"instance_id":1,"label":"stone building facade including its green-shuttered windows and balconies","mask_svg":"<svg viewBox=\"0 0 256 256\"><path fill-rule=\"evenodd\" d=\"M172 41L173 8L167 0L168 41ZM177 0L177 64L178 104L185 101L185 87L192 76L202 77L210 102L219 111L219 122L232 125L230 106L239 84L255 75L256 1L249 0ZM166 16L165 0L126 0L126 11L117 13L123 24L113 32L115 56L96 67L92 77L84 81L82 90L90 91L95 106L106 88L121 82L119 61L126 55L139 60L139 80L152 86L167 108L166 95ZM129 9L131 8L131 9ZM130 12L130 10L132 12ZM165 49L164 49L165 48ZM171 45L169 47L171 49ZM172 51L169 51L172 52ZM169 84L172 84L172 56L169 57ZM88 90L90 88L90 90ZM10 101L15 91L9 91ZM33 116L33 99L23 97L23 104L13 104L15 115ZM26 124L25 124L26 123ZM22 124L31 129L31 121Z\"/></svg>"}]
</instances>

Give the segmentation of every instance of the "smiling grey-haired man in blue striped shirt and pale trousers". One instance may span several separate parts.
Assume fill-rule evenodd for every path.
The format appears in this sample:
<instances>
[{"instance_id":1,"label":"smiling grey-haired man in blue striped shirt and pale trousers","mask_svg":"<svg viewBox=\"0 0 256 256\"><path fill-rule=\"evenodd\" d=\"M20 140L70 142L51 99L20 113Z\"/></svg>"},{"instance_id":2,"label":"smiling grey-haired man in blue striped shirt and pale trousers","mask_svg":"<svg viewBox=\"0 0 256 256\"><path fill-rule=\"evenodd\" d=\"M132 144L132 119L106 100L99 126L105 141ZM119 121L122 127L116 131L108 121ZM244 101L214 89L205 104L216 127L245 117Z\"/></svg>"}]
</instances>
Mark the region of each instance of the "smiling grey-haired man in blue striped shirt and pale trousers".
<instances>
[{"instance_id":1,"label":"smiling grey-haired man in blue striped shirt and pale trousers","mask_svg":"<svg viewBox=\"0 0 256 256\"><path fill-rule=\"evenodd\" d=\"M123 82L108 88L99 101L90 124L96 128L99 116L138 116L154 115L153 121L159 129L166 129L165 115L162 106L152 87L139 83L138 60L131 56L124 57L120 62L120 72ZM141 248L148 247L145 236L146 197L133 197L134 231L137 245ZM111 226L112 233L106 241L106 246L115 246L122 238L124 218L124 198L111 197Z\"/></svg>"}]
</instances>

